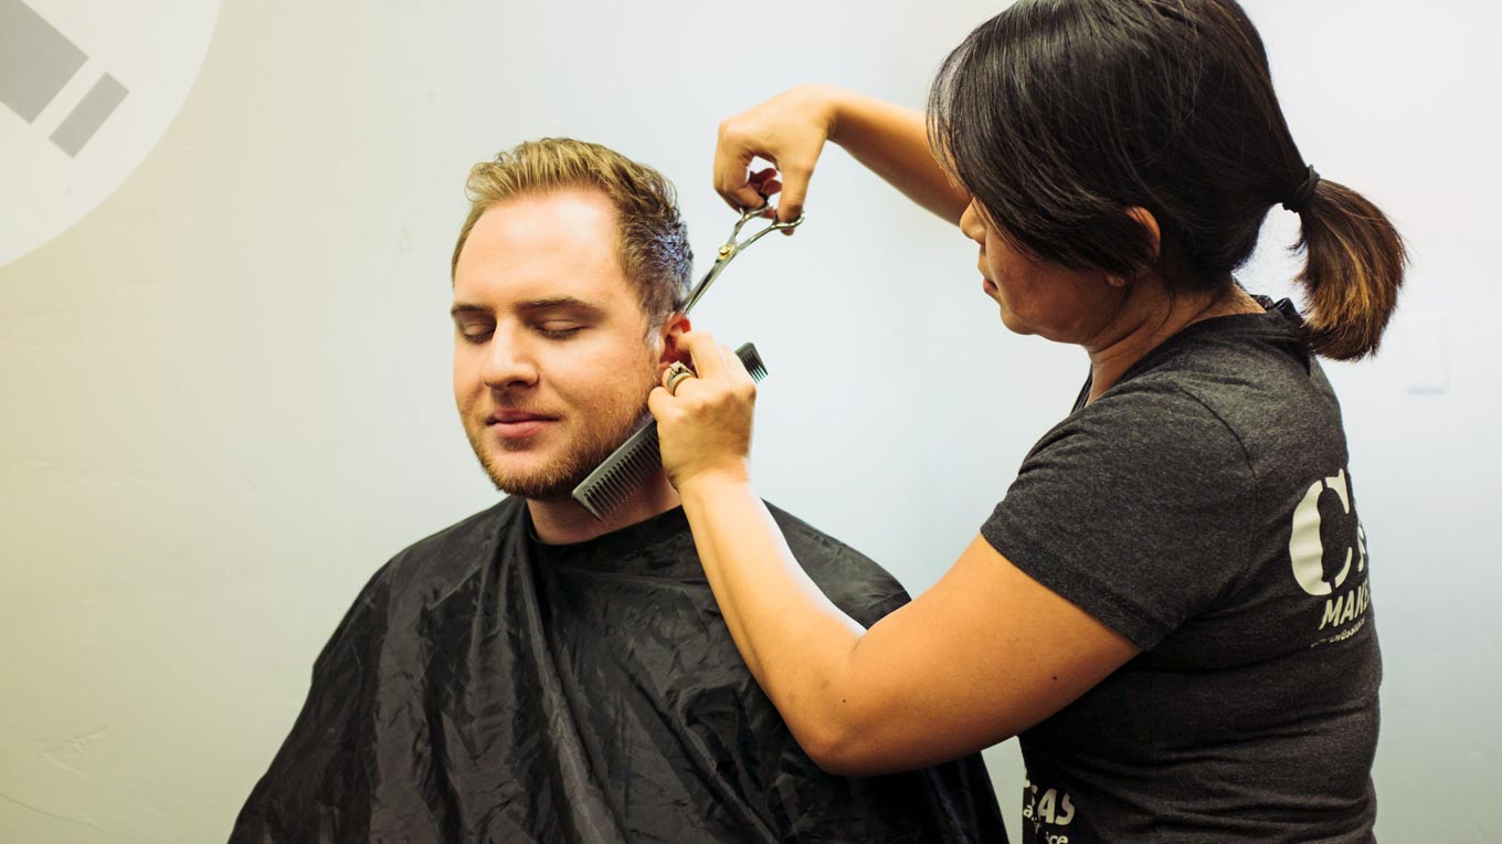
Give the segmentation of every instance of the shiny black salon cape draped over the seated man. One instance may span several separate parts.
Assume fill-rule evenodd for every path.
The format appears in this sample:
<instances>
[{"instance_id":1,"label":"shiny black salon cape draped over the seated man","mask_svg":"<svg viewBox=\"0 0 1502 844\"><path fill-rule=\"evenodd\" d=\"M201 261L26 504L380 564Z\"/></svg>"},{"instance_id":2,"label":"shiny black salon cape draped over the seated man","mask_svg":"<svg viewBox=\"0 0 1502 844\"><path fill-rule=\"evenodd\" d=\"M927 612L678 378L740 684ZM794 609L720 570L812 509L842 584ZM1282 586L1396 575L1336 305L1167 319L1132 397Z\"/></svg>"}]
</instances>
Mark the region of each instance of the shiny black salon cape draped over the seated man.
<instances>
[{"instance_id":1,"label":"shiny black salon cape draped over the seated man","mask_svg":"<svg viewBox=\"0 0 1502 844\"><path fill-rule=\"evenodd\" d=\"M870 626L907 601L774 508ZM1005 841L978 755L844 778L751 677L682 509L539 545L506 499L392 559L318 655L231 842Z\"/></svg>"}]
</instances>

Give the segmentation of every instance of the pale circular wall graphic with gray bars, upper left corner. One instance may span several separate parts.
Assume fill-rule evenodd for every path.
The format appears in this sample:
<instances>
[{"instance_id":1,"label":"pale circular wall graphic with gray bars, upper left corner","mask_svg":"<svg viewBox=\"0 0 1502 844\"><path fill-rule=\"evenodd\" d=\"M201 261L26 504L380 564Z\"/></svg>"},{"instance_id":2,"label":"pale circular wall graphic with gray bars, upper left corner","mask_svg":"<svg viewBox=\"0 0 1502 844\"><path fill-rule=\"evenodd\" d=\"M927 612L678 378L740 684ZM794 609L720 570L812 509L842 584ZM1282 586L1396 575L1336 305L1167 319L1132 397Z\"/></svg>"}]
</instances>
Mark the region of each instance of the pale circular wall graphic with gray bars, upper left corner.
<instances>
[{"instance_id":1,"label":"pale circular wall graphic with gray bars, upper left corner","mask_svg":"<svg viewBox=\"0 0 1502 844\"><path fill-rule=\"evenodd\" d=\"M219 0L0 0L0 266L98 207L198 77Z\"/></svg>"}]
</instances>

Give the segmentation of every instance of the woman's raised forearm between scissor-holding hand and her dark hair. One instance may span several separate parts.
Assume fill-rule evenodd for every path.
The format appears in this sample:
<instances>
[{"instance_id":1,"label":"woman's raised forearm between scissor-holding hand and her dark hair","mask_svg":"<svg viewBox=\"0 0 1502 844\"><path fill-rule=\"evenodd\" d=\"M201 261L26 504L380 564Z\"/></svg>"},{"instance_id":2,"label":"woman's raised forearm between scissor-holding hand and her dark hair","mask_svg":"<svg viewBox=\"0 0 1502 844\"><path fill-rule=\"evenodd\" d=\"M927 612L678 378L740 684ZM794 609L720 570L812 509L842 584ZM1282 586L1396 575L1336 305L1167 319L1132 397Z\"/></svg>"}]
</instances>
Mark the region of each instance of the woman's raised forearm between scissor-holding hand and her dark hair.
<instances>
[{"instance_id":1,"label":"woman's raised forearm between scissor-holding hand and her dark hair","mask_svg":"<svg viewBox=\"0 0 1502 844\"><path fill-rule=\"evenodd\" d=\"M829 140L907 198L958 224L970 195L939 165L922 111L826 87L835 120Z\"/></svg>"}]
</instances>

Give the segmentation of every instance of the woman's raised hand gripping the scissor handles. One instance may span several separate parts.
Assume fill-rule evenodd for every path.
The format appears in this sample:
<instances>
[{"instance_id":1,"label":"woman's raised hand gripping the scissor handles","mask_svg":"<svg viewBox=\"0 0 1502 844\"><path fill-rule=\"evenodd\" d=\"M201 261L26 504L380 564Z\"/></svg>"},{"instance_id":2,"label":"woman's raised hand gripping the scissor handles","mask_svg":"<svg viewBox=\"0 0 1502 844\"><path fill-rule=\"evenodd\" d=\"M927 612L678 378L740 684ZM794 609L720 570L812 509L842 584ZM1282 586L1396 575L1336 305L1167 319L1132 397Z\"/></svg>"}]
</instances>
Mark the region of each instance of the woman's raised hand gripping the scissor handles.
<instances>
[{"instance_id":1,"label":"woman's raised hand gripping the scissor handles","mask_svg":"<svg viewBox=\"0 0 1502 844\"><path fill-rule=\"evenodd\" d=\"M832 86L799 86L722 120L715 147L715 191L739 210L754 209L763 197L781 189L778 219L798 219L819 153L835 134L838 96L840 89ZM777 173L753 173L754 158L769 161Z\"/></svg>"}]
</instances>

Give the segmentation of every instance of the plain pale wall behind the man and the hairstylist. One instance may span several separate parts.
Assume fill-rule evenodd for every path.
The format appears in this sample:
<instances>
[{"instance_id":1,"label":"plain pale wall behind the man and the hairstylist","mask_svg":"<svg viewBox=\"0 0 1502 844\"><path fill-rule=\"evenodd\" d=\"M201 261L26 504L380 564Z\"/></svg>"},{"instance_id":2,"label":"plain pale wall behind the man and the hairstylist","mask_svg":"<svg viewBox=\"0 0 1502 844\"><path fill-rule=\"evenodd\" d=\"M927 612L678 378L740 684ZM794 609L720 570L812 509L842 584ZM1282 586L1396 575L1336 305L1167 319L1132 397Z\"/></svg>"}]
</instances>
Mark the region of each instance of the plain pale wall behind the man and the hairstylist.
<instances>
[{"instance_id":1,"label":"plain pale wall behind the man and the hairstylist","mask_svg":"<svg viewBox=\"0 0 1502 844\"><path fill-rule=\"evenodd\" d=\"M32 5L59 27L95 6ZM159 50L189 50L173 21L204 5L167 6ZM801 81L921 105L943 53L996 11L418 6L225 2L155 150L0 266L0 842L222 839L359 586L494 500L448 384L469 164L539 135L607 143L679 183L709 255L731 222L709 189L719 117ZM1493 841L1499 14L1248 9L1305 155L1413 248L1385 354L1329 368L1386 658L1379 832ZM0 195L12 219L32 201ZM918 592L1066 410L1084 360L1009 336L973 248L843 152L808 216L740 258L695 323L756 339L771 365L762 493ZM1292 231L1272 215L1253 287L1284 288ZM1015 824L1012 745L988 758Z\"/></svg>"}]
</instances>

